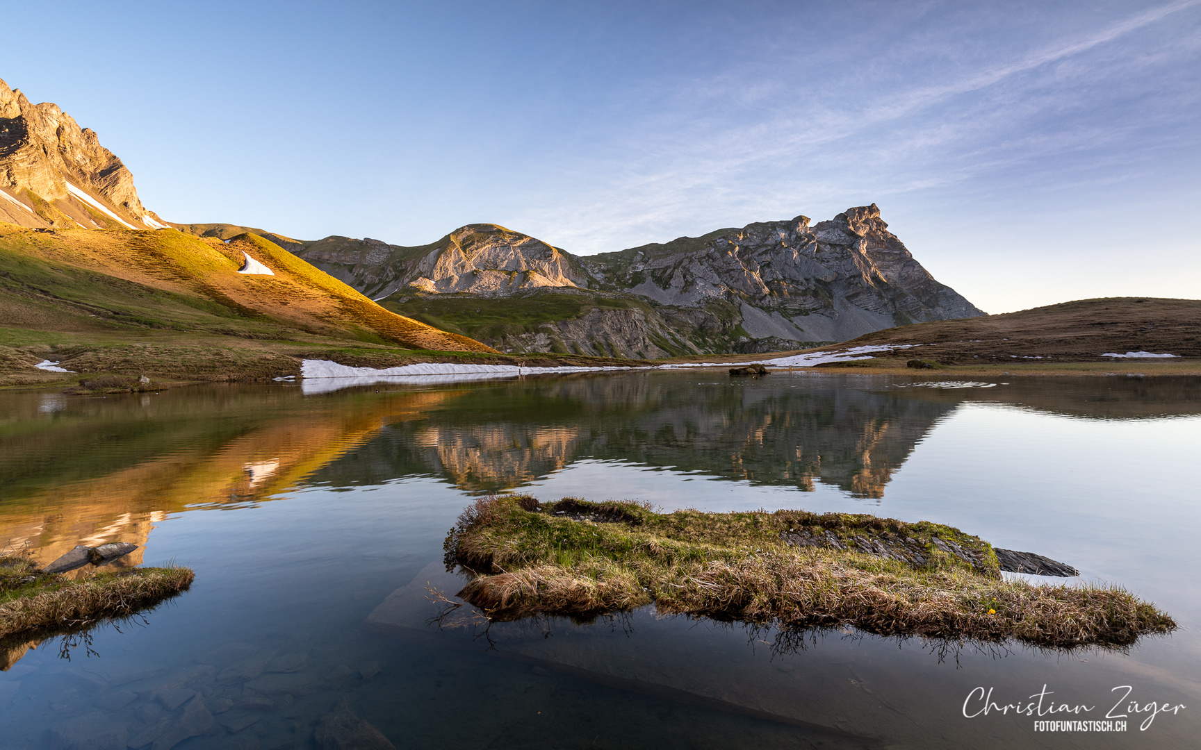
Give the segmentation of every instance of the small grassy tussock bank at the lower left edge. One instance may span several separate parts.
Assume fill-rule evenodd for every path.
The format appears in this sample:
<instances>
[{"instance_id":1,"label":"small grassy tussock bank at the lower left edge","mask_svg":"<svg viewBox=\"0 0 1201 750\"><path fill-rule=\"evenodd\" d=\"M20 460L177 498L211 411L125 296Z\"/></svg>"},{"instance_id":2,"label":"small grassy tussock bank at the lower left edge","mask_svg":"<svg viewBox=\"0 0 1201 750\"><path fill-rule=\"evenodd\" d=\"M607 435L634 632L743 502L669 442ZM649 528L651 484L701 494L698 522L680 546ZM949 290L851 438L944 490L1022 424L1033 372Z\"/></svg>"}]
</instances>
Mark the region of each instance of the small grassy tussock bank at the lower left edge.
<instances>
[{"instance_id":1,"label":"small grassy tussock bank at the lower left edge","mask_svg":"<svg viewBox=\"0 0 1201 750\"><path fill-rule=\"evenodd\" d=\"M0 557L0 640L61 632L123 618L192 583L187 568L131 568L70 580L38 572L23 557Z\"/></svg>"}]
</instances>

